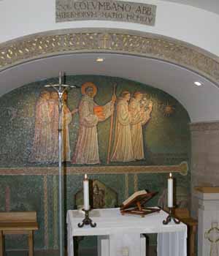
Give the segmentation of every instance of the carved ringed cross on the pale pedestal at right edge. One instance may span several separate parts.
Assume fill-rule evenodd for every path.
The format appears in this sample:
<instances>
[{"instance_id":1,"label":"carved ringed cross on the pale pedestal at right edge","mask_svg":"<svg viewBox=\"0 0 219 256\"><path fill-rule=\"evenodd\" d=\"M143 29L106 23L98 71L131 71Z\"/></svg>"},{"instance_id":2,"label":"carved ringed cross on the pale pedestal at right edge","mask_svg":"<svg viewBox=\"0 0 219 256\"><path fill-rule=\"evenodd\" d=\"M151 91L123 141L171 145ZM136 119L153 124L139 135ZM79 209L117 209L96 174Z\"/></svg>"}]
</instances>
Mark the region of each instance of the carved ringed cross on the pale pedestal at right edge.
<instances>
[{"instance_id":1,"label":"carved ringed cross on the pale pedestal at right edge","mask_svg":"<svg viewBox=\"0 0 219 256\"><path fill-rule=\"evenodd\" d=\"M210 230L204 233L204 238L210 241L210 256L218 256L219 229L218 222L212 222Z\"/></svg>"}]
</instances>

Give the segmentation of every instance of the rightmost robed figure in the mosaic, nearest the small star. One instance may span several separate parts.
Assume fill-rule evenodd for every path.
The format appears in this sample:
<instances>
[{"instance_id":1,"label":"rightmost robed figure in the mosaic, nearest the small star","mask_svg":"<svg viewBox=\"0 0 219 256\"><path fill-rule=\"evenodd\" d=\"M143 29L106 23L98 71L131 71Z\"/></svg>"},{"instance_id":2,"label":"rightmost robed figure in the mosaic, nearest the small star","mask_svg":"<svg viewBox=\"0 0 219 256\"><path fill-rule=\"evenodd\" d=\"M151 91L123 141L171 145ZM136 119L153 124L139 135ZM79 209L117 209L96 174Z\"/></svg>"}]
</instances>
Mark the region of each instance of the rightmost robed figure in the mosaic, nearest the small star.
<instances>
[{"instance_id":1,"label":"rightmost robed figure in the mosaic, nearest the small star","mask_svg":"<svg viewBox=\"0 0 219 256\"><path fill-rule=\"evenodd\" d=\"M134 97L128 105L129 113L131 114L131 141L134 159L145 159L144 143L142 135L142 126L147 124L150 120L150 113L152 111L152 103L148 105L147 102L142 101L143 94L140 91L134 93Z\"/></svg>"}]
</instances>

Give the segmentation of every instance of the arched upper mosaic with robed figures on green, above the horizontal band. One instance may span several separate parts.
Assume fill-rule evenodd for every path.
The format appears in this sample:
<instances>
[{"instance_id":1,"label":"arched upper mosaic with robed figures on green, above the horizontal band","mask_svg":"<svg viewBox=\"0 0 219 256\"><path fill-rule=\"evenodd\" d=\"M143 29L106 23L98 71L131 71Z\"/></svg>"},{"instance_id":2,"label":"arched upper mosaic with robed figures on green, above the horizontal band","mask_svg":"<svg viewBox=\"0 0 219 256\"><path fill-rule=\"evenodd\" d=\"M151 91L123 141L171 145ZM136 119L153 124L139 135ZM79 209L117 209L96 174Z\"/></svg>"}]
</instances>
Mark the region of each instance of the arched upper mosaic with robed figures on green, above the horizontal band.
<instances>
[{"instance_id":1,"label":"arched upper mosaic with robed figures on green, above the horizontal band","mask_svg":"<svg viewBox=\"0 0 219 256\"><path fill-rule=\"evenodd\" d=\"M1 167L58 162L58 95L44 88L55 82L1 97ZM68 166L187 161L188 113L164 91L120 78L72 76L66 82L80 86L64 94L62 159Z\"/></svg>"}]
</instances>

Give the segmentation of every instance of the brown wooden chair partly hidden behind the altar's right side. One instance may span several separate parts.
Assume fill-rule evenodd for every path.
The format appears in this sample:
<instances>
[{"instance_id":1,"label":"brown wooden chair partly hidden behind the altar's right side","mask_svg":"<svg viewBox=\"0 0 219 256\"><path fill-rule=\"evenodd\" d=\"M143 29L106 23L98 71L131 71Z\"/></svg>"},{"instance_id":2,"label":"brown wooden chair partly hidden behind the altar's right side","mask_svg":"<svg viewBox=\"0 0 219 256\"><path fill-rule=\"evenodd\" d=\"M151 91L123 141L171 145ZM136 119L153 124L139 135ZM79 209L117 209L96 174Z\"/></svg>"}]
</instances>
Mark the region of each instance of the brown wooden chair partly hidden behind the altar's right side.
<instances>
[{"instance_id":1,"label":"brown wooden chair partly hidden behind the altar's right side","mask_svg":"<svg viewBox=\"0 0 219 256\"><path fill-rule=\"evenodd\" d=\"M188 208L175 208L175 216L188 226L188 255L195 256L198 222L196 219L190 217Z\"/></svg>"}]
</instances>

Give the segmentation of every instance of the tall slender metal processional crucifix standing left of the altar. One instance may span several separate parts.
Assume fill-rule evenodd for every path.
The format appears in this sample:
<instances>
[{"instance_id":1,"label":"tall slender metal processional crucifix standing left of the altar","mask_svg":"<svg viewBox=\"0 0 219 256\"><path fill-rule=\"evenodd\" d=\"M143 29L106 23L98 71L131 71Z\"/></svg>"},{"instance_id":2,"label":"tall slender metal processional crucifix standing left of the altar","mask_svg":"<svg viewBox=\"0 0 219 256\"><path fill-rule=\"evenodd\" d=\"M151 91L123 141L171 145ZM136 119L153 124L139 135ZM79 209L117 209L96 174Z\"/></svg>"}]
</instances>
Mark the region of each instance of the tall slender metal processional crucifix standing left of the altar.
<instances>
[{"instance_id":1,"label":"tall slender metal processional crucifix standing left of the altar","mask_svg":"<svg viewBox=\"0 0 219 256\"><path fill-rule=\"evenodd\" d=\"M45 87L53 87L58 92L58 205L59 205L59 255L64 256L64 178L61 168L62 163L62 108L63 94L66 89L76 88L77 86L69 86L61 83L61 71L59 71L58 84L46 85Z\"/></svg>"}]
</instances>

